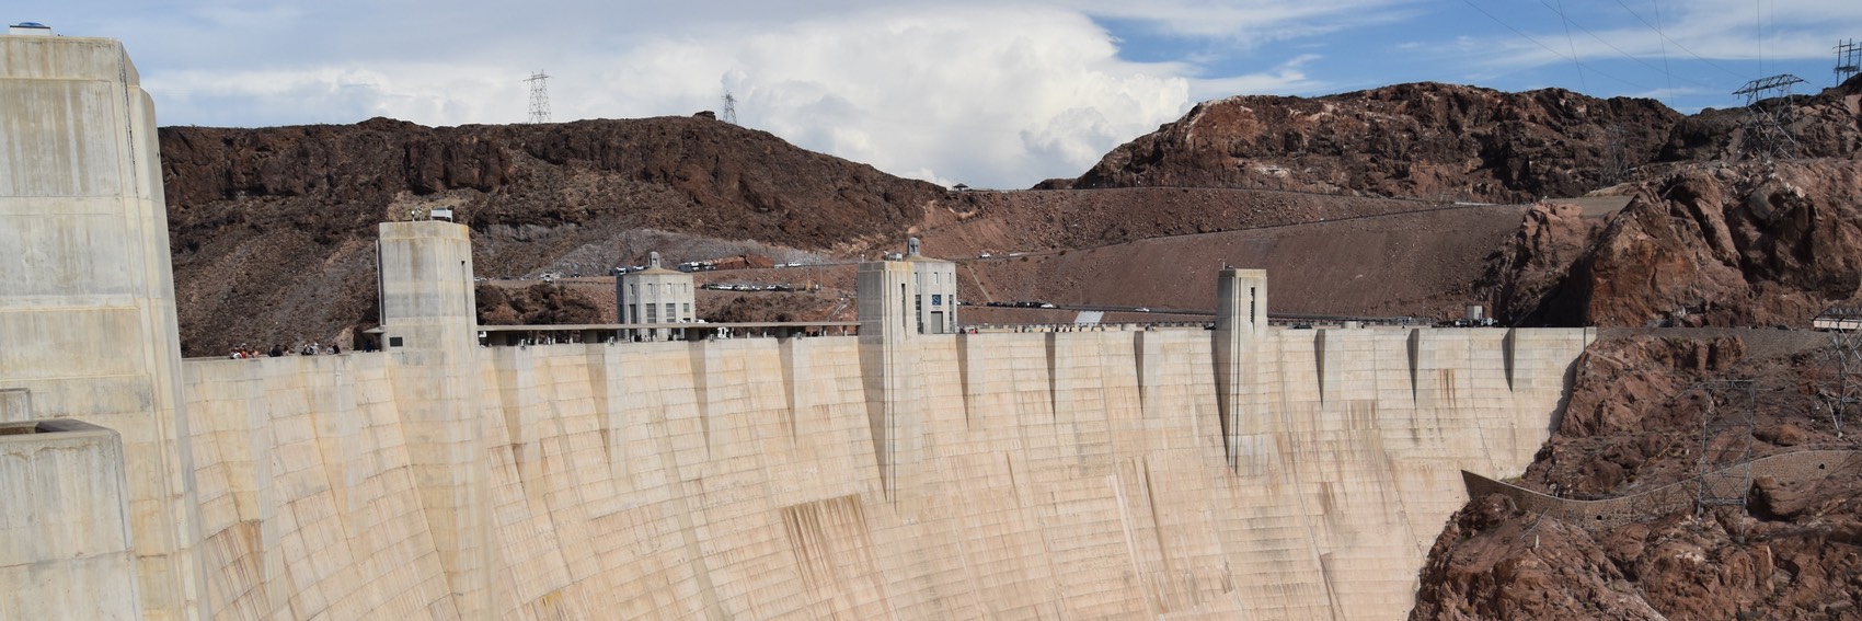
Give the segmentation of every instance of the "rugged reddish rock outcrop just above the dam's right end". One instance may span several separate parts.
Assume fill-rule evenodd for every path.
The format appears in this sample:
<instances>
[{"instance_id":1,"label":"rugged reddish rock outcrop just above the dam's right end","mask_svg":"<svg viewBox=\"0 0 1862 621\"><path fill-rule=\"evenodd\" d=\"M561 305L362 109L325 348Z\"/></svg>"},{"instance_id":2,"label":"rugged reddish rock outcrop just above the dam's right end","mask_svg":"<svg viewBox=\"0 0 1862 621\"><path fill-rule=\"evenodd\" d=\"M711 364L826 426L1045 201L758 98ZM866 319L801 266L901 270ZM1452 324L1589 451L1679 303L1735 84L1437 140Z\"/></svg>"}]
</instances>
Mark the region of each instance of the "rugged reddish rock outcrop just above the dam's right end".
<instances>
[{"instance_id":1,"label":"rugged reddish rock outcrop just above the dam's right end","mask_svg":"<svg viewBox=\"0 0 1862 621\"><path fill-rule=\"evenodd\" d=\"M1607 219L1542 205L1478 286L1525 325L1808 325L1862 286L1862 162L1687 165Z\"/></svg>"}]
</instances>

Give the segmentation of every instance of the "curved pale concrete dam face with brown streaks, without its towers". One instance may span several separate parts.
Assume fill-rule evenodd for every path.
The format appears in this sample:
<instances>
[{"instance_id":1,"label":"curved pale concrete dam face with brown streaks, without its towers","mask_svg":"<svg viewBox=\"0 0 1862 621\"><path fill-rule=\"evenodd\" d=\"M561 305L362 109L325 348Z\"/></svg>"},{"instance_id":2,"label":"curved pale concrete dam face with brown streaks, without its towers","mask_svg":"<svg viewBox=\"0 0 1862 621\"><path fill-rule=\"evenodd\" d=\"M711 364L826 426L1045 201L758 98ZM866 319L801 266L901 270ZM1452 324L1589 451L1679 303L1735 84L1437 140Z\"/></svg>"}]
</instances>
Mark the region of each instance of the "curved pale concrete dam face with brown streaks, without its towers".
<instances>
[{"instance_id":1,"label":"curved pale concrete dam face with brown streaks, without its towers","mask_svg":"<svg viewBox=\"0 0 1862 621\"><path fill-rule=\"evenodd\" d=\"M858 338L475 350L488 467L462 485L490 524L454 537L490 552L482 593L449 586L397 355L188 363L207 595L300 619L1393 619L1458 472L1531 461L1586 338L1266 331L1231 456L1208 331L916 337L888 476Z\"/></svg>"}]
</instances>

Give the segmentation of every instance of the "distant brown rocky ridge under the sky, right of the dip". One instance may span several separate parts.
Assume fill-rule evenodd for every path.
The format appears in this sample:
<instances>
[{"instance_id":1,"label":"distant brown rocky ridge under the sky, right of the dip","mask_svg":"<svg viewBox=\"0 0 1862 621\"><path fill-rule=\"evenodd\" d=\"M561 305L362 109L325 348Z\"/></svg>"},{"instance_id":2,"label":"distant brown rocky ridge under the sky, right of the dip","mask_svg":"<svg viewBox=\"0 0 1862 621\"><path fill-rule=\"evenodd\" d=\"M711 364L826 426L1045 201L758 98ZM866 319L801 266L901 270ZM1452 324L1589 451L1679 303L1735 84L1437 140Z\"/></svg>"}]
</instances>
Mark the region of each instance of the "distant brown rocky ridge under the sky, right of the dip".
<instances>
[{"instance_id":1,"label":"distant brown rocky ridge under the sky, right of the dip","mask_svg":"<svg viewBox=\"0 0 1862 621\"><path fill-rule=\"evenodd\" d=\"M1113 149L1073 188L1220 186L1531 201L1627 178L1681 115L1648 99L1449 84L1195 106Z\"/></svg>"}]
</instances>

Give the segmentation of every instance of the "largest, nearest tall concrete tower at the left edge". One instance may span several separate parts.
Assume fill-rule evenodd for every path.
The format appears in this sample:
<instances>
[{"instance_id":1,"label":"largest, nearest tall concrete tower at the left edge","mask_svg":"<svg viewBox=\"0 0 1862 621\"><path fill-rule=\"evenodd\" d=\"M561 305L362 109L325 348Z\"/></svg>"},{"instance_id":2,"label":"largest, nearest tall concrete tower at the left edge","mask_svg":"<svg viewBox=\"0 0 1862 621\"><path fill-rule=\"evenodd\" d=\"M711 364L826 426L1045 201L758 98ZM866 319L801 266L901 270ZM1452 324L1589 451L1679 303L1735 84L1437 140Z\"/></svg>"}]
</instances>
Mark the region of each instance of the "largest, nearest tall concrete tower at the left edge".
<instances>
[{"instance_id":1,"label":"largest, nearest tall concrete tower at the left edge","mask_svg":"<svg viewBox=\"0 0 1862 621\"><path fill-rule=\"evenodd\" d=\"M142 614L207 617L155 104L114 39L0 35L0 390L30 403L0 413L121 433Z\"/></svg>"}]
</instances>

